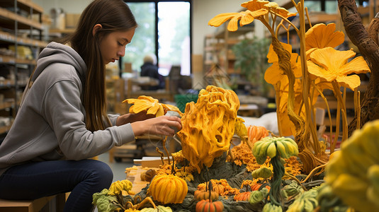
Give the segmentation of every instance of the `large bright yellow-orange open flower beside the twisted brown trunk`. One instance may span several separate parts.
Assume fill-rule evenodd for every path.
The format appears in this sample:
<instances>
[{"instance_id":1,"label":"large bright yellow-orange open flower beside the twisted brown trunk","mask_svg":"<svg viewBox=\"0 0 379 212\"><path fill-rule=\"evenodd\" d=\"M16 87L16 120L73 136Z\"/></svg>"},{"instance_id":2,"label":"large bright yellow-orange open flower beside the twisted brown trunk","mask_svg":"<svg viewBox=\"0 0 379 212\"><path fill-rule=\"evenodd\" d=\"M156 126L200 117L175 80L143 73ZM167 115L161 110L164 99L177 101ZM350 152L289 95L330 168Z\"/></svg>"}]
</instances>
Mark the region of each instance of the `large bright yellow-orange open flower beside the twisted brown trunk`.
<instances>
[{"instance_id":1,"label":"large bright yellow-orange open flower beside the twisted brown trunk","mask_svg":"<svg viewBox=\"0 0 379 212\"><path fill-rule=\"evenodd\" d=\"M310 61L307 61L310 74L322 78L324 81L336 81L340 86L354 90L361 84L357 75L351 73L368 73L370 68L363 57L356 57L352 50L338 51L332 47L316 49L310 54Z\"/></svg>"}]
</instances>

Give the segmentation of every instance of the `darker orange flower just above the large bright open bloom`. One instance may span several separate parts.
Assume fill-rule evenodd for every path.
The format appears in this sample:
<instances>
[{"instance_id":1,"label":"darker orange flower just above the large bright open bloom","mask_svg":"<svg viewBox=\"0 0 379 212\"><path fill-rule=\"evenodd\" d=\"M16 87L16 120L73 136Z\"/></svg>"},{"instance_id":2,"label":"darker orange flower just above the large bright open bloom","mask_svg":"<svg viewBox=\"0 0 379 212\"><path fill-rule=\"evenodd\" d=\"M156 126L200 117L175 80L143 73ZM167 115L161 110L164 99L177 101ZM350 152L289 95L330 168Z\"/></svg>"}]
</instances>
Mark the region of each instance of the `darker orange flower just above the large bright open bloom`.
<instances>
[{"instance_id":1,"label":"darker orange flower just above the large bright open bloom","mask_svg":"<svg viewBox=\"0 0 379 212\"><path fill-rule=\"evenodd\" d=\"M307 54L325 47L338 47L345 40L345 35L341 31L335 31L336 24L319 23L307 30L305 33L305 49Z\"/></svg>"}]
</instances>

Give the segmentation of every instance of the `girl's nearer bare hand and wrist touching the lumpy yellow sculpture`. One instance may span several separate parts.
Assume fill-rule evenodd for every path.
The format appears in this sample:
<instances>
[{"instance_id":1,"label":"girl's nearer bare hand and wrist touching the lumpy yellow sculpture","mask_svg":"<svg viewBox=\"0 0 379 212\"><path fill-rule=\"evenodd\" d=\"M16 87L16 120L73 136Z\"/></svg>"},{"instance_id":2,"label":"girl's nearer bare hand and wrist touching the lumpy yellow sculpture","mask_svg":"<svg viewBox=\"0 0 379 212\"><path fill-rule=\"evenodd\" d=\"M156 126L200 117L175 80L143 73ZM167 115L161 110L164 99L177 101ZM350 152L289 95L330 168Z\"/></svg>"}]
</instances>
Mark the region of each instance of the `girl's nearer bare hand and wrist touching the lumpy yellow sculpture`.
<instances>
[{"instance_id":1,"label":"girl's nearer bare hand and wrist touching the lumpy yellow sculpture","mask_svg":"<svg viewBox=\"0 0 379 212\"><path fill-rule=\"evenodd\" d=\"M181 130L181 119L174 116L160 116L144 121L132 122L135 136L142 134L155 134L163 136L174 136L175 130Z\"/></svg>"}]
</instances>

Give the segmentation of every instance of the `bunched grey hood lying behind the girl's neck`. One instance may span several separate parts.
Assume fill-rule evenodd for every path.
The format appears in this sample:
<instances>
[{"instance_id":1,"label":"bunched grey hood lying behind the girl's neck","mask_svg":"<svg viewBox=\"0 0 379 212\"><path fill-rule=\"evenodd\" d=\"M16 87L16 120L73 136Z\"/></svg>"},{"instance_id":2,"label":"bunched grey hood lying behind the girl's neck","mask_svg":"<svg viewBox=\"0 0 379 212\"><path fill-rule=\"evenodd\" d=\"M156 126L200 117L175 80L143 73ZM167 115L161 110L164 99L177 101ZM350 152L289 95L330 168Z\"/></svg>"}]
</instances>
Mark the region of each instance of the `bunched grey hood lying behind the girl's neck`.
<instances>
[{"instance_id":1,"label":"bunched grey hood lying behind the girl's neck","mask_svg":"<svg viewBox=\"0 0 379 212\"><path fill-rule=\"evenodd\" d=\"M74 66L77 70L81 83L84 84L86 78L86 63L80 57L80 55L69 47L68 45L62 45L57 42L50 42L45 49L40 53L37 62L37 69L35 69L30 81L35 81L40 73L45 70L47 66L54 63L69 64Z\"/></svg>"}]
</instances>

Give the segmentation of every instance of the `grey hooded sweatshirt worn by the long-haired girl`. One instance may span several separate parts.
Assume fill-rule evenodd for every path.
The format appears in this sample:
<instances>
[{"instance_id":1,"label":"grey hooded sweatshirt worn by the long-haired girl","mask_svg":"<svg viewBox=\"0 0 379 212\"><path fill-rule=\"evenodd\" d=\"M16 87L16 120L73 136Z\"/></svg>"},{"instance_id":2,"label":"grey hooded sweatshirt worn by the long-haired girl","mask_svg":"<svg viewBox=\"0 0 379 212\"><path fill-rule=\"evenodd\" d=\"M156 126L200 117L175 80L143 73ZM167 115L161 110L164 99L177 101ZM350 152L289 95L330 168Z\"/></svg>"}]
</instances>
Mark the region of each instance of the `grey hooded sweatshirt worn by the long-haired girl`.
<instances>
[{"instance_id":1,"label":"grey hooded sweatshirt worn by the long-haired girl","mask_svg":"<svg viewBox=\"0 0 379 212\"><path fill-rule=\"evenodd\" d=\"M0 175L12 165L81 160L135 141L130 124L91 132L81 103L86 64L71 47L51 42L23 94L16 119L0 146ZM30 88L29 88L30 87Z\"/></svg>"}]
</instances>

